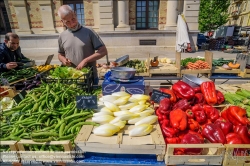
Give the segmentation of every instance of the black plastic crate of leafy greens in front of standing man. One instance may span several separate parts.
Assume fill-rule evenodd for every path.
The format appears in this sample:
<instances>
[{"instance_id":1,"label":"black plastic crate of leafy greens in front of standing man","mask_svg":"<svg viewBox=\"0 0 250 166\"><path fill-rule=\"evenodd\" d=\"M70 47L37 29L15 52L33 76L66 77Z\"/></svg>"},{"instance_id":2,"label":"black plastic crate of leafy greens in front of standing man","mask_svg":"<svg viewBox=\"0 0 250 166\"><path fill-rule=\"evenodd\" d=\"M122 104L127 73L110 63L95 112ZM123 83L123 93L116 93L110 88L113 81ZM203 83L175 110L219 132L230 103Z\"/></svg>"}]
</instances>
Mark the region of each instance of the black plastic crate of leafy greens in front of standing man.
<instances>
[{"instance_id":1,"label":"black plastic crate of leafy greens in front of standing man","mask_svg":"<svg viewBox=\"0 0 250 166\"><path fill-rule=\"evenodd\" d=\"M53 69L51 69L53 70ZM45 83L55 83L60 82L62 84L75 84L77 87L85 90L86 92L91 92L93 89L94 83L94 75L93 75L93 67L90 68L88 73L83 74L79 78L48 78L50 71L47 71L42 74L42 80Z\"/></svg>"}]
</instances>

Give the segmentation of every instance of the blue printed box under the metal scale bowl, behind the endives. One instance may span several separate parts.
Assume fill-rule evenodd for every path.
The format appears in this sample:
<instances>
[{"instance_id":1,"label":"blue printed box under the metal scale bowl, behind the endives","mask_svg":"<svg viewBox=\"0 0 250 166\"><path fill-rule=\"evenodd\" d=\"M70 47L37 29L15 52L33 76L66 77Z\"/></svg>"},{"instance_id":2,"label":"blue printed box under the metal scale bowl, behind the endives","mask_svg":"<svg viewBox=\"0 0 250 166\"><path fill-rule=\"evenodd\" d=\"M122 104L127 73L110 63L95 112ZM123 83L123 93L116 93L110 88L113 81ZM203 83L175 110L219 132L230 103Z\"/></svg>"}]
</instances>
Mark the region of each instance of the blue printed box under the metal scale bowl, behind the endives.
<instances>
[{"instance_id":1,"label":"blue printed box under the metal scale bowl, behind the endives","mask_svg":"<svg viewBox=\"0 0 250 166\"><path fill-rule=\"evenodd\" d=\"M134 82L119 82L105 79L102 83L102 94L110 95L119 91L125 91L129 94L144 94L145 83L143 77L135 76L132 81Z\"/></svg>"}]
</instances>

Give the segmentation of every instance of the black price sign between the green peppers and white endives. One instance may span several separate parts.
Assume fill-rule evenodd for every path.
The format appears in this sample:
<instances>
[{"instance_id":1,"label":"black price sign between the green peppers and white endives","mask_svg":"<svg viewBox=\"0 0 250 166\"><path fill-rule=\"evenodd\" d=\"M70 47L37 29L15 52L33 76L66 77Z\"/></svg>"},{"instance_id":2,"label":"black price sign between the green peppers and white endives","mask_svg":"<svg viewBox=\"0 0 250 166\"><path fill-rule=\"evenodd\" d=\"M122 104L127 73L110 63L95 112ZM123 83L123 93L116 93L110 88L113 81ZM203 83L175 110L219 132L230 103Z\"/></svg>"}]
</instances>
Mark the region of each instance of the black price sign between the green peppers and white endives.
<instances>
[{"instance_id":1,"label":"black price sign between the green peppers and white endives","mask_svg":"<svg viewBox=\"0 0 250 166\"><path fill-rule=\"evenodd\" d=\"M76 107L78 109L97 109L97 96L76 96Z\"/></svg>"}]
</instances>

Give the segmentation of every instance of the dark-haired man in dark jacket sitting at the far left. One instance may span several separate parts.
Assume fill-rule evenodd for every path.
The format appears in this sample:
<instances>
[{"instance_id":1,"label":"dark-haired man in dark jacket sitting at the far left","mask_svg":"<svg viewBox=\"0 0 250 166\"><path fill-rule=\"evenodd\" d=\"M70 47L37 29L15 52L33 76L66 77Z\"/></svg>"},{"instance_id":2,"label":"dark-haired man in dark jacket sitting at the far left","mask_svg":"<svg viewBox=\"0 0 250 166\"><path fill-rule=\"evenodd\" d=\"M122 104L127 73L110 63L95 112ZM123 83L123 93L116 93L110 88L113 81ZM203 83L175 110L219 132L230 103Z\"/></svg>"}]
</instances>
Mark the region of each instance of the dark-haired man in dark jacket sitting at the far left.
<instances>
[{"instance_id":1,"label":"dark-haired man in dark jacket sitting at the far left","mask_svg":"<svg viewBox=\"0 0 250 166\"><path fill-rule=\"evenodd\" d=\"M7 33L4 43L0 44L0 72L18 69L17 62L27 59L19 47L19 36L15 33Z\"/></svg>"}]
</instances>

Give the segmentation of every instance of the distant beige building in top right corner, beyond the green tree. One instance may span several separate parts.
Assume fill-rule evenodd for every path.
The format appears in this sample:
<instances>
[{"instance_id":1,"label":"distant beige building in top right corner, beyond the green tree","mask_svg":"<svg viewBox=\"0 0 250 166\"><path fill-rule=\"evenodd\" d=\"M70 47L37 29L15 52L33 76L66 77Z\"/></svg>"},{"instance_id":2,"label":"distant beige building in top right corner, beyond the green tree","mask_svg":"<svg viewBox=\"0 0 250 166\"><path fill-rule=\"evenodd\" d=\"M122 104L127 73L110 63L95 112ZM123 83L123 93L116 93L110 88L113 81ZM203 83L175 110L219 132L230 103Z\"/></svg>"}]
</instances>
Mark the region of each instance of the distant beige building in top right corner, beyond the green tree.
<instances>
[{"instance_id":1,"label":"distant beige building in top right corner, beyond the green tree","mask_svg":"<svg viewBox=\"0 0 250 166\"><path fill-rule=\"evenodd\" d=\"M250 26L250 0L231 0L227 25Z\"/></svg>"}]
</instances>

